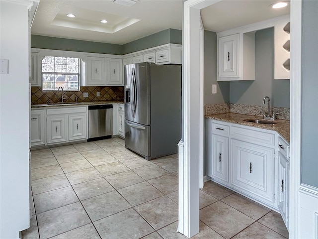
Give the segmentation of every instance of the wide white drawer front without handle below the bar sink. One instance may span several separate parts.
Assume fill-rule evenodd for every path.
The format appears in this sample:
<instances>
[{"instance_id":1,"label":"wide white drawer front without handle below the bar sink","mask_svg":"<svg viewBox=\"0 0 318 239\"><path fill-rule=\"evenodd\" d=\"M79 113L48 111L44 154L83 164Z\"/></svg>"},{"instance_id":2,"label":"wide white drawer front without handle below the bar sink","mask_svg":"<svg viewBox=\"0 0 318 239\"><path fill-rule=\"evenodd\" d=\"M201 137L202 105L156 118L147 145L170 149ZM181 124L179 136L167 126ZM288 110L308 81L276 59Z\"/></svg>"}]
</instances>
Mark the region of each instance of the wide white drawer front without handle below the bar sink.
<instances>
[{"instance_id":1,"label":"wide white drawer front without handle below the bar sink","mask_svg":"<svg viewBox=\"0 0 318 239\"><path fill-rule=\"evenodd\" d=\"M268 130L270 131L270 130ZM239 140L244 140L252 143L263 143L266 145L275 145L275 133L263 132L257 129L248 129L232 126L231 136Z\"/></svg>"}]
</instances>

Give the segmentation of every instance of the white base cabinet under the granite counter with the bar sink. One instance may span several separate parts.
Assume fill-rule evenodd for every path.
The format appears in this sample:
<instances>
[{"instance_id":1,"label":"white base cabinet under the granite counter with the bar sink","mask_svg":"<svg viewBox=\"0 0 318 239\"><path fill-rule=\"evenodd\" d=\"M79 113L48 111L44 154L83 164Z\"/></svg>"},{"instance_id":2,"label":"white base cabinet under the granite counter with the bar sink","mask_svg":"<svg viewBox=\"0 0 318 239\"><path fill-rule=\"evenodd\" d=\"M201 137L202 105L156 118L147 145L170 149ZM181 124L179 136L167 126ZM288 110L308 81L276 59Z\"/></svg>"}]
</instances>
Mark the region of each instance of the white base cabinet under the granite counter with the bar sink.
<instances>
[{"instance_id":1,"label":"white base cabinet under the granite counter with the bar sink","mask_svg":"<svg viewBox=\"0 0 318 239\"><path fill-rule=\"evenodd\" d=\"M273 130L214 119L206 123L206 174L289 221L289 144Z\"/></svg>"}]
</instances>

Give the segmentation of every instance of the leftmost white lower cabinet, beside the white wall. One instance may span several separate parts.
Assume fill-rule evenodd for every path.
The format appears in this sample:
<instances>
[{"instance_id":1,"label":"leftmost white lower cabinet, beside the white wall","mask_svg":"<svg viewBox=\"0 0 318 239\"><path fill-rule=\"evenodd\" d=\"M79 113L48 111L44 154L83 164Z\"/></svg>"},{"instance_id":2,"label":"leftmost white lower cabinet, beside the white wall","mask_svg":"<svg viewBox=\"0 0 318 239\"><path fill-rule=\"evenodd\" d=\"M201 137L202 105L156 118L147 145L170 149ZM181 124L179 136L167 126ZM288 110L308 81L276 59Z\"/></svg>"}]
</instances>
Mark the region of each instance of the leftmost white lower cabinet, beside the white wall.
<instances>
[{"instance_id":1,"label":"leftmost white lower cabinet, beside the white wall","mask_svg":"<svg viewBox=\"0 0 318 239\"><path fill-rule=\"evenodd\" d=\"M31 111L31 147L45 144L45 110Z\"/></svg>"}]
</instances>

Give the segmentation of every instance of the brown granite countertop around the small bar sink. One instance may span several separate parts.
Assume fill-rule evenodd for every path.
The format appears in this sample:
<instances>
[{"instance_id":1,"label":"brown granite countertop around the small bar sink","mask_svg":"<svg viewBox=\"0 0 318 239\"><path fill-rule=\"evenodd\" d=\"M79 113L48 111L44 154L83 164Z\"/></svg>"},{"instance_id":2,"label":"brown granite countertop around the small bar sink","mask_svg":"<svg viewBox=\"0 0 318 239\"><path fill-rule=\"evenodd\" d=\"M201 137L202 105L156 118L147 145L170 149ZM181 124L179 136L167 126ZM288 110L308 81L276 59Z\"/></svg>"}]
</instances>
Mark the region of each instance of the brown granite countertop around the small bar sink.
<instances>
[{"instance_id":1,"label":"brown granite countertop around the small bar sink","mask_svg":"<svg viewBox=\"0 0 318 239\"><path fill-rule=\"evenodd\" d=\"M253 122L246 122L244 120L262 119L262 118L256 117L256 116L250 116L250 115L241 115L236 113L209 115L209 116L205 116L205 118L220 120L220 121L229 122L229 123L237 123L237 124L252 126L257 128L275 130L289 143L289 120L275 119L274 121L277 123L274 123L274 124L253 123Z\"/></svg>"}]
</instances>

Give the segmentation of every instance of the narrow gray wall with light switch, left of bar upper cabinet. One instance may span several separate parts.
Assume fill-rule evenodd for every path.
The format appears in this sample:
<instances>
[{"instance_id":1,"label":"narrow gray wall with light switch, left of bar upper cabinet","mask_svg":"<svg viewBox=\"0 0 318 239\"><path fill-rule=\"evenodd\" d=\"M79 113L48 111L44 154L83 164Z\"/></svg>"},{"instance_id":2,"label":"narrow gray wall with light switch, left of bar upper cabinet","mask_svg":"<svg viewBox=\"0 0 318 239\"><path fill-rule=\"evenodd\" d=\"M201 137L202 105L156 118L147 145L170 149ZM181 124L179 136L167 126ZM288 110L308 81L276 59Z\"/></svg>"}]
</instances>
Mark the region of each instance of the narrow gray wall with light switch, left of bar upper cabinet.
<instances>
[{"instance_id":1,"label":"narrow gray wall with light switch, left of bar upper cabinet","mask_svg":"<svg viewBox=\"0 0 318 239\"><path fill-rule=\"evenodd\" d=\"M212 94L217 84L217 94ZM217 34L204 31L204 104L230 102L230 82L217 82Z\"/></svg>"}]
</instances>

